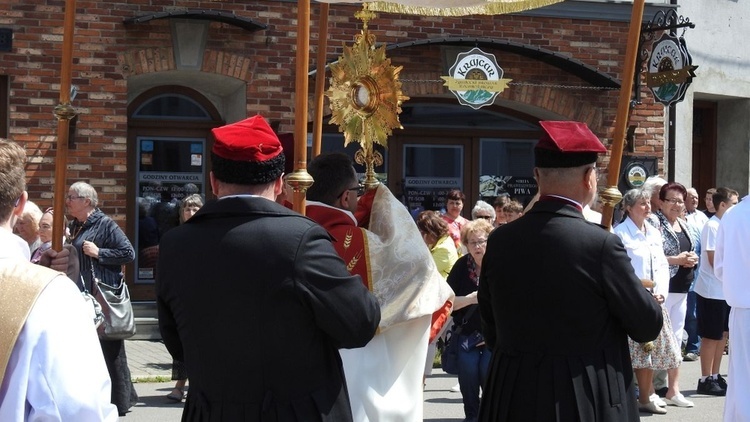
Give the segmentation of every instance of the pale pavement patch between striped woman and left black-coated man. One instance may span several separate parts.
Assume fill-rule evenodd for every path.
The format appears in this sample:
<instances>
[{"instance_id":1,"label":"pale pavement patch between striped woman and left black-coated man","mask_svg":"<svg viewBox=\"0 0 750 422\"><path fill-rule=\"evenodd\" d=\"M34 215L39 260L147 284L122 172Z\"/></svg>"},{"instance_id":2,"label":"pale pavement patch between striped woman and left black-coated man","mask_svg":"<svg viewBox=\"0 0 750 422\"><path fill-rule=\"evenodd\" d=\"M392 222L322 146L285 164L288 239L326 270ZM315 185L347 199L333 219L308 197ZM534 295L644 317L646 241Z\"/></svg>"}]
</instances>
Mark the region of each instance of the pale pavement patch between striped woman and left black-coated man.
<instances>
[{"instance_id":1,"label":"pale pavement patch between striped woman and left black-coated man","mask_svg":"<svg viewBox=\"0 0 750 422\"><path fill-rule=\"evenodd\" d=\"M172 356L161 341L125 340L130 376L133 381L169 381L172 378Z\"/></svg>"}]
</instances>

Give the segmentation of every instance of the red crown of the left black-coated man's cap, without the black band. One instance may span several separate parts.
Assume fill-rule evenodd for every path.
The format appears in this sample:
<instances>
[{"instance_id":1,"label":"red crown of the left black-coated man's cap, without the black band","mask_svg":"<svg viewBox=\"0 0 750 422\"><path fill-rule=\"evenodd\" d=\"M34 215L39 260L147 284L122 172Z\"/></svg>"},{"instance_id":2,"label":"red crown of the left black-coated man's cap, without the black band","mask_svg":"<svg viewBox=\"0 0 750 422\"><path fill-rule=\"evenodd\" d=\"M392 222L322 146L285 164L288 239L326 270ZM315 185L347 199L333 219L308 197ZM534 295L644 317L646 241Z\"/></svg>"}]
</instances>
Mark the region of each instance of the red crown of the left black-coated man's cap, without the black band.
<instances>
[{"instance_id":1,"label":"red crown of the left black-coated man's cap, without the black band","mask_svg":"<svg viewBox=\"0 0 750 422\"><path fill-rule=\"evenodd\" d=\"M257 115L211 130L211 151L232 161L263 162L283 152L283 147L266 119Z\"/></svg>"}]
</instances>

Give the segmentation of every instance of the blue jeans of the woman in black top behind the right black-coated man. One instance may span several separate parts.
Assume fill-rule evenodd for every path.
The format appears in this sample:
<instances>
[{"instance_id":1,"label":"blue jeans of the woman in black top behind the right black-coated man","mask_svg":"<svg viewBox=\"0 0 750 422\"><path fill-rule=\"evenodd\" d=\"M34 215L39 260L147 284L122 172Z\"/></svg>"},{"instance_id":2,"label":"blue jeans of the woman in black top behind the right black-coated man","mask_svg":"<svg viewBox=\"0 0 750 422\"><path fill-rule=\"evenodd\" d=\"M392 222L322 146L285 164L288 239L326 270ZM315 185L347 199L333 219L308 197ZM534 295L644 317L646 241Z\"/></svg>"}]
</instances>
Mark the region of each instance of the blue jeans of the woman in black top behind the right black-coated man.
<instances>
[{"instance_id":1,"label":"blue jeans of the woman in black top behind the right black-coated man","mask_svg":"<svg viewBox=\"0 0 750 422\"><path fill-rule=\"evenodd\" d=\"M461 335L461 343L467 336ZM487 380L490 369L490 350L486 346L470 350L458 349L458 383L461 385L461 396L464 401L464 414L467 420L476 420L479 416L479 388Z\"/></svg>"}]
</instances>

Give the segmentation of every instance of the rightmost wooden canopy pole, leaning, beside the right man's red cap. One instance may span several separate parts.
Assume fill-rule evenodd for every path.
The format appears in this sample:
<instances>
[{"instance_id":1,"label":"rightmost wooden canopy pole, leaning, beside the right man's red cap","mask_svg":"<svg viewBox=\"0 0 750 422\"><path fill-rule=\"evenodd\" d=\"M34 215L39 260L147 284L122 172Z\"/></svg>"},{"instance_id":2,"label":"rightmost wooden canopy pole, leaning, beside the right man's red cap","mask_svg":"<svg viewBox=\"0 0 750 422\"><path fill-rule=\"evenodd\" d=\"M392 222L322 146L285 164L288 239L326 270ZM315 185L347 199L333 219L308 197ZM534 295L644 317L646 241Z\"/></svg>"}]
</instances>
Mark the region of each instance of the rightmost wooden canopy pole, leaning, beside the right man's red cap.
<instances>
[{"instance_id":1,"label":"rightmost wooden canopy pole, leaning, beside the right man's red cap","mask_svg":"<svg viewBox=\"0 0 750 422\"><path fill-rule=\"evenodd\" d=\"M612 227L612 216L614 215L615 205L622 200L622 194L617 188L617 182L620 179L622 151L625 146L625 131L628 125L628 115L630 112L633 93L633 79L636 70L636 58L638 55L638 41L641 35L641 23L643 22L643 9L644 0L634 0L633 12L630 17L630 31L628 32L627 48L625 50L622 85L620 86L620 100L617 105L615 131L612 138L612 152L609 156L609 168L607 169L607 189L599 195L604 203L604 208L602 209L602 224L608 229Z\"/></svg>"}]
</instances>

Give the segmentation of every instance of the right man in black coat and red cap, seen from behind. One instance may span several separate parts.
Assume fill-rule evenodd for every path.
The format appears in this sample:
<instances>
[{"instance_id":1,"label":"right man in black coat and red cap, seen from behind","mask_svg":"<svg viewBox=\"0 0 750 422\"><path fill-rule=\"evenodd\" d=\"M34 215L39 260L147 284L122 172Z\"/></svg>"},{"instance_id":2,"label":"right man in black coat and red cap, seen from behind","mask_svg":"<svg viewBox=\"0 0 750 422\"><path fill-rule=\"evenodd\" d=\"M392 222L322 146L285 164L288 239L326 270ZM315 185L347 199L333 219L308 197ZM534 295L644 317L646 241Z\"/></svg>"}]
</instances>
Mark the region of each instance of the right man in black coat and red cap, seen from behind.
<instances>
[{"instance_id":1,"label":"right man in black coat and red cap, seen from behind","mask_svg":"<svg viewBox=\"0 0 750 422\"><path fill-rule=\"evenodd\" d=\"M479 420L637 421L627 336L655 339L661 310L619 238L583 218L606 149L582 123L540 125L540 199L490 235L482 264L493 357Z\"/></svg>"}]
</instances>

